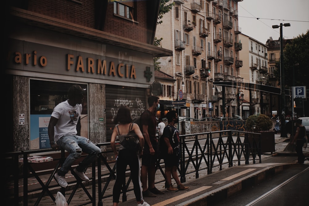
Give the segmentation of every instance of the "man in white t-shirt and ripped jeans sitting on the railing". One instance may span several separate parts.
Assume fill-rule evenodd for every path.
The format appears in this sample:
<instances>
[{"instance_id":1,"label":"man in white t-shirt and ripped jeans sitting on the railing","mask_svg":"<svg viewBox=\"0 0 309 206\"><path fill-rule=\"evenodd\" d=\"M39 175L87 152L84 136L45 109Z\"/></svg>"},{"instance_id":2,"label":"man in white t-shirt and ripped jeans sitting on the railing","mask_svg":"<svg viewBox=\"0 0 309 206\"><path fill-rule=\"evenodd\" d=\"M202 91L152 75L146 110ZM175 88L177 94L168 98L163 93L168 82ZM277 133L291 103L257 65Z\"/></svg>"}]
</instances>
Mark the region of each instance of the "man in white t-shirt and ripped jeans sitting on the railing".
<instances>
[{"instance_id":1,"label":"man in white t-shirt and ripped jeans sitting on the railing","mask_svg":"<svg viewBox=\"0 0 309 206\"><path fill-rule=\"evenodd\" d=\"M68 90L69 99L56 105L49 120L48 136L51 148L54 150L65 149L70 153L54 175L61 187L68 186L65 175L82 152L87 153L88 156L78 164L74 173L83 181L88 181L89 178L84 171L101 152L101 149L89 139L80 136L80 115L84 93L85 91L79 85L70 86Z\"/></svg>"}]
</instances>

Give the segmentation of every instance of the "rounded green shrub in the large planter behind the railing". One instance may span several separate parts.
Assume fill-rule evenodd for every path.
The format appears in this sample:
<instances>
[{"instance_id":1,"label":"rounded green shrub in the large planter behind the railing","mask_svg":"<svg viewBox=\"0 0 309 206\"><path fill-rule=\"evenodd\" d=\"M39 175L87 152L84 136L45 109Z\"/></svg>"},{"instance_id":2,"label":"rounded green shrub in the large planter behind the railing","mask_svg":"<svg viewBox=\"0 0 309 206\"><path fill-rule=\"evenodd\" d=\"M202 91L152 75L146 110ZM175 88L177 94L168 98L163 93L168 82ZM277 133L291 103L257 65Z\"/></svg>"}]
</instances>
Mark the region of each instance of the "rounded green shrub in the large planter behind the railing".
<instances>
[{"instance_id":1,"label":"rounded green shrub in the large planter behind the railing","mask_svg":"<svg viewBox=\"0 0 309 206\"><path fill-rule=\"evenodd\" d=\"M273 127L270 118L263 114L250 115L245 124L247 131L267 131Z\"/></svg>"}]
</instances>

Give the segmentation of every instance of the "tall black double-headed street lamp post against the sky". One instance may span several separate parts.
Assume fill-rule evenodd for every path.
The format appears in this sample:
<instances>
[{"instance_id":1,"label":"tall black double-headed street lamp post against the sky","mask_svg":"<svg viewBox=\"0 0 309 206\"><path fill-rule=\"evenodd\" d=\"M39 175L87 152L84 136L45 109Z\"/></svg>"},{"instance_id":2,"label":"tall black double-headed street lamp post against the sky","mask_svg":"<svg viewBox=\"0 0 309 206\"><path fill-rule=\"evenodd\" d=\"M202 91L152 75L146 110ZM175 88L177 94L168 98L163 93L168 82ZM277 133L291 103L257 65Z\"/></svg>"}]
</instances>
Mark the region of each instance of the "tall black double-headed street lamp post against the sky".
<instances>
[{"instance_id":1,"label":"tall black double-headed street lamp post against the sky","mask_svg":"<svg viewBox=\"0 0 309 206\"><path fill-rule=\"evenodd\" d=\"M286 120L285 120L285 108L286 108L286 97L285 97L285 91L284 91L284 60L283 60L283 38L282 38L282 26L289 27L291 26L290 23L279 25L273 25L273 28L279 28L280 27L280 72L281 72L281 136L280 137L287 137L286 134Z\"/></svg>"}]
</instances>

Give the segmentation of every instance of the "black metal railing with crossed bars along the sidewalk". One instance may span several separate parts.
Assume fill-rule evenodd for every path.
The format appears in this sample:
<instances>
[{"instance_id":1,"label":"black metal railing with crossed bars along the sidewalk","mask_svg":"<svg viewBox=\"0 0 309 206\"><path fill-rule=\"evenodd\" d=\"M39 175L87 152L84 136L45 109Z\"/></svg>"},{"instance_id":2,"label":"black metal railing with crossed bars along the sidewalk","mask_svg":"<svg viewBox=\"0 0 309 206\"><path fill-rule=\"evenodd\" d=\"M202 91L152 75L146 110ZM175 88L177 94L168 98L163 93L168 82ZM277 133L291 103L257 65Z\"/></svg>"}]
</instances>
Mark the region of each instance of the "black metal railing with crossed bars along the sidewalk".
<instances>
[{"instance_id":1,"label":"black metal railing with crossed bars along the sidewalk","mask_svg":"<svg viewBox=\"0 0 309 206\"><path fill-rule=\"evenodd\" d=\"M214 168L222 170L222 168L233 166L233 162L237 165L249 164L249 161L253 164L256 161L261 163L260 133L225 130L188 134L180 136L180 143L181 159L178 171L182 183L186 182L186 176L191 173L195 173L195 178L199 178L199 173L202 170L207 170L207 174L211 174ZM100 148L109 147L109 145L110 143L97 144ZM59 185L55 181L53 184L51 182L53 175L65 160L65 151L61 151L60 158L53 159L56 165L53 170L35 170L33 168L35 163L28 162L28 157L33 154L38 155L41 153L44 155L51 151L53 150L36 149L5 154L5 161L8 168L6 170L6 179L14 184L13 190L6 190L6 197L11 197L11 205L21 205L21 202L23 202L23 205L28 205L29 198L36 199L34 205L39 205L42 198L46 196L50 197L52 202L55 201L55 195L59 191ZM103 205L102 200L112 196L110 190L109 192L107 191L108 188L113 187L112 181L116 177L116 167L115 162L108 162L106 156L107 152L103 151L99 154L97 161L91 165L92 175L89 177L89 182L82 183L82 180L79 178L67 179L68 184L73 185L70 187L72 192L67 199L68 204L74 198L78 188L82 188L89 198L86 202L78 205L92 204L95 206L96 201L98 201L97 205ZM19 158L23 158L23 161L19 162ZM102 170L102 167L104 167L104 170ZM23 168L22 172L20 168ZM71 169L71 172L73 169ZM163 169L164 162L158 159L155 184L165 182ZM129 169L127 170L129 171ZM45 176L45 182L41 179L43 175ZM128 178L126 178L122 190L122 201L126 201L126 192L133 190L132 184L130 186L131 178L129 172L127 176ZM28 178L30 177L37 180L38 184L36 184L36 187L29 187ZM104 185L103 188L102 185ZM22 191L19 191L20 187L23 188ZM68 189L68 187L60 187L61 193L64 195Z\"/></svg>"}]
</instances>

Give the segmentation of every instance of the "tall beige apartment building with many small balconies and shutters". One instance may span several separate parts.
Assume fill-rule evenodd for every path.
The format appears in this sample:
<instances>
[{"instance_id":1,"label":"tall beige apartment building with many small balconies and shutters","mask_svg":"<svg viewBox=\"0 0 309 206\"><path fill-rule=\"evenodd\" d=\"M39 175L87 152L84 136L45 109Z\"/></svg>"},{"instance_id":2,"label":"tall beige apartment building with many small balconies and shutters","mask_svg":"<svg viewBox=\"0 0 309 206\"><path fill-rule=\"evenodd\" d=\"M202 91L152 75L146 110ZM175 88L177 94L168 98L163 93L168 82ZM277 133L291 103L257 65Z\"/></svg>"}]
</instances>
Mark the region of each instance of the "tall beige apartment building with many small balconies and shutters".
<instances>
[{"instance_id":1,"label":"tall beige apartment building with many small balconies and shutters","mask_svg":"<svg viewBox=\"0 0 309 206\"><path fill-rule=\"evenodd\" d=\"M160 58L160 70L175 78L174 93L161 99L179 100L183 91L185 105L180 117L202 119L237 113L237 87L214 82L242 81L238 35L240 0L174 0L175 5L157 26L161 46L173 51L172 57ZM162 82L163 87L165 82ZM232 85L232 84L231 84ZM164 90L164 88L163 88ZM224 100L222 100L224 99ZM224 101L224 102L223 102Z\"/></svg>"}]
</instances>

